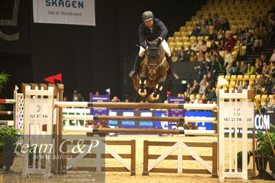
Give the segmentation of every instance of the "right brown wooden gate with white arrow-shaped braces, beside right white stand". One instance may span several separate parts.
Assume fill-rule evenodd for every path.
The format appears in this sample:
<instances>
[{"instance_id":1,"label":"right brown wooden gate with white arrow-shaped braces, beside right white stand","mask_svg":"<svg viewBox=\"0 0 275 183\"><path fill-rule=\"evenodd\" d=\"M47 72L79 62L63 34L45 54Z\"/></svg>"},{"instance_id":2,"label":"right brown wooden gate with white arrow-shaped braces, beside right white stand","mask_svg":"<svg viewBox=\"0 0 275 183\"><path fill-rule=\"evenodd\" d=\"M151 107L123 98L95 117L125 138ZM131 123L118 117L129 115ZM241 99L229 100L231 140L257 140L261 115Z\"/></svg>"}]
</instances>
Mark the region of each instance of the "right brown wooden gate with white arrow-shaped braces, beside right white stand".
<instances>
[{"instance_id":1,"label":"right brown wooden gate with white arrow-shaped braces, beside right white stand","mask_svg":"<svg viewBox=\"0 0 275 183\"><path fill-rule=\"evenodd\" d=\"M161 155L149 154L149 147L171 147ZM212 155L197 155L190 147L211 148ZM170 155L173 151L178 155ZM183 150L190 155L183 155ZM154 160L149 164L149 160ZM177 160L177 169L155 168L163 160ZM183 160L196 160L205 169L183 169ZM205 161L211 161L212 166ZM143 175L152 173L203 173L217 176L217 142L152 142L145 140L143 142Z\"/></svg>"}]
</instances>

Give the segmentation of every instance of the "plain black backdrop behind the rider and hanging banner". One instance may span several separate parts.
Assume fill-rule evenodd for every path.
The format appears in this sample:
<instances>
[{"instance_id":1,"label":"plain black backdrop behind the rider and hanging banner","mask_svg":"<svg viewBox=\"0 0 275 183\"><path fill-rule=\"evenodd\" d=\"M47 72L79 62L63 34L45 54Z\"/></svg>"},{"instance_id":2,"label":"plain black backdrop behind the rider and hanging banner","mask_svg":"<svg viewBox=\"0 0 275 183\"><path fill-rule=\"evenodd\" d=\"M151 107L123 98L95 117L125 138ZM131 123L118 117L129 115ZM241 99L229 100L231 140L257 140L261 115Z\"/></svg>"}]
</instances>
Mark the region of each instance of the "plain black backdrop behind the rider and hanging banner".
<instances>
[{"instance_id":1,"label":"plain black backdrop behind the rider and hanging banner","mask_svg":"<svg viewBox=\"0 0 275 183\"><path fill-rule=\"evenodd\" d=\"M11 19L13 4L14 0L0 1L0 19ZM20 34L17 41L0 39L0 72L10 74L0 98L12 98L14 85L45 83L44 78L62 73L68 100L72 100L74 89L89 100L90 92L105 94L108 88L111 97L132 99L134 89L128 72L139 50L135 45L139 44L142 12L154 12L172 36L203 4L205 0L96 0L96 26L81 26L33 23L32 0L21 0L17 26L0 25L1 32ZM183 67L176 67L181 77L190 77L181 72ZM172 94L181 87L179 82L167 81L167 89L177 88Z\"/></svg>"}]
</instances>

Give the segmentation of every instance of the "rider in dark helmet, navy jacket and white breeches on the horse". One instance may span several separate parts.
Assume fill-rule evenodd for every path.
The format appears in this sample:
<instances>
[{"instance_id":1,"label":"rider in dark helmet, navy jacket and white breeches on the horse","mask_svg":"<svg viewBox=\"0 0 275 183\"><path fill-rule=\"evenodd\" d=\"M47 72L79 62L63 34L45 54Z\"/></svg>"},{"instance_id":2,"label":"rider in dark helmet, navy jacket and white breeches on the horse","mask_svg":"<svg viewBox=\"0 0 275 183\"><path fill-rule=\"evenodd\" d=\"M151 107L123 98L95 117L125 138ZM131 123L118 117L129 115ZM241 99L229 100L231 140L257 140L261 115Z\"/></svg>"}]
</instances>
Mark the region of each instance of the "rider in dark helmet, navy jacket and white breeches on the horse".
<instances>
[{"instance_id":1,"label":"rider in dark helmet, navy jacket and white breeches on the horse","mask_svg":"<svg viewBox=\"0 0 275 183\"><path fill-rule=\"evenodd\" d=\"M143 12L141 18L143 20L143 23L139 25L139 43L141 46L139 54L136 56L136 61L134 62L134 69L132 69L132 71L129 73L129 76L134 78L135 74L139 70L142 58L148 47L145 43L145 39L147 41L158 39L157 46L161 46L167 56L167 61L169 63L168 74L170 74L174 79L179 79L179 76L172 69L172 56L170 48L165 41L165 36L167 36L168 33L167 28L162 21L155 19L154 14L150 11Z\"/></svg>"}]
</instances>

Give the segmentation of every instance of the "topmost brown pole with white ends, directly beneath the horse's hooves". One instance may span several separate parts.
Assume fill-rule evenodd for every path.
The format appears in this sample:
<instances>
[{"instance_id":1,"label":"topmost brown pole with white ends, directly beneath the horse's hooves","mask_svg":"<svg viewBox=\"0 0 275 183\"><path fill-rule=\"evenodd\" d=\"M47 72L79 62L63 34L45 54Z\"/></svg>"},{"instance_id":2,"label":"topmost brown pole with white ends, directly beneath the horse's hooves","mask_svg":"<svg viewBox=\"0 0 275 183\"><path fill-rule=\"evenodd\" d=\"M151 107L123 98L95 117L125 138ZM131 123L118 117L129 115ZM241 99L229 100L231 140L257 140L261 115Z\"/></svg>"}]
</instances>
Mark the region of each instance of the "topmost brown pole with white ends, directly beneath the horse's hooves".
<instances>
[{"instance_id":1,"label":"topmost brown pole with white ends, directly beneath the horse's hooves","mask_svg":"<svg viewBox=\"0 0 275 183\"><path fill-rule=\"evenodd\" d=\"M119 109L206 109L216 108L216 104L169 104L169 103L90 103L56 102L54 107L105 107Z\"/></svg>"}]
</instances>

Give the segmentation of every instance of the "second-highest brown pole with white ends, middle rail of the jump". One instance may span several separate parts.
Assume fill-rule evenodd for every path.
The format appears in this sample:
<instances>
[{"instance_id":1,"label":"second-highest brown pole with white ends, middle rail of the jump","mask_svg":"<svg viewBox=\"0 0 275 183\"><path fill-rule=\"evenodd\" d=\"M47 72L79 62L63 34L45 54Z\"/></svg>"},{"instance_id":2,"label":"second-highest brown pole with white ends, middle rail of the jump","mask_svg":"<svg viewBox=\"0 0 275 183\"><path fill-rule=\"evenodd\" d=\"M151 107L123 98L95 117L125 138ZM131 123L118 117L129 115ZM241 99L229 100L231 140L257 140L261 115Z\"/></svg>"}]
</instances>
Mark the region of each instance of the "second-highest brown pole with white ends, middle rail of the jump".
<instances>
[{"instance_id":1,"label":"second-highest brown pole with white ends, middle rail of the jump","mask_svg":"<svg viewBox=\"0 0 275 183\"><path fill-rule=\"evenodd\" d=\"M63 120L134 120L134 121L172 121L172 122L216 122L216 118L207 117L143 117L143 116L96 116L63 115Z\"/></svg>"}]
</instances>

